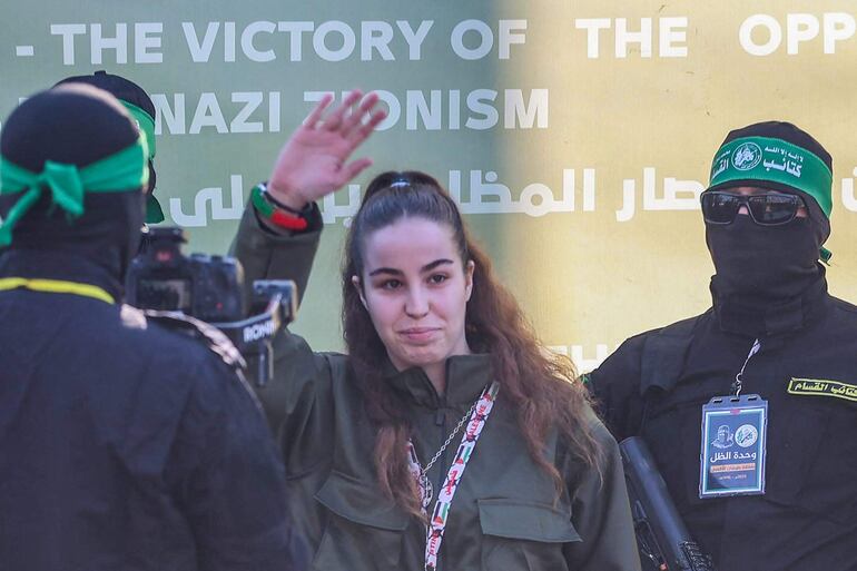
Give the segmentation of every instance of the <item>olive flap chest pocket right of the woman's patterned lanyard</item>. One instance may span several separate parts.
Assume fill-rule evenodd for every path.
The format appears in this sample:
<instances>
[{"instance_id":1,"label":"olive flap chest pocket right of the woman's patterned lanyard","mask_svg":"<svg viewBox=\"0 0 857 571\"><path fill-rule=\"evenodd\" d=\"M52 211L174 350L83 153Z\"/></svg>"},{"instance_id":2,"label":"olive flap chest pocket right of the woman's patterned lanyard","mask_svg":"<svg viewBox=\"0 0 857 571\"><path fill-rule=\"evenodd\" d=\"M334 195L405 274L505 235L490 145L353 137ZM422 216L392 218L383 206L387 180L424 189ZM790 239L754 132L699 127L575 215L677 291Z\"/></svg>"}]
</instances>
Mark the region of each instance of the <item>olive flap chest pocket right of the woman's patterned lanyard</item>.
<instances>
[{"instance_id":1,"label":"olive flap chest pocket right of the woman's patterned lanyard","mask_svg":"<svg viewBox=\"0 0 857 571\"><path fill-rule=\"evenodd\" d=\"M551 505L509 499L479 500L482 569L568 569L562 548L581 541L571 514Z\"/></svg>"}]
</instances>

